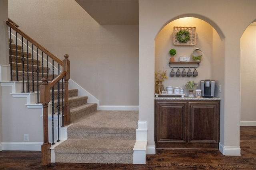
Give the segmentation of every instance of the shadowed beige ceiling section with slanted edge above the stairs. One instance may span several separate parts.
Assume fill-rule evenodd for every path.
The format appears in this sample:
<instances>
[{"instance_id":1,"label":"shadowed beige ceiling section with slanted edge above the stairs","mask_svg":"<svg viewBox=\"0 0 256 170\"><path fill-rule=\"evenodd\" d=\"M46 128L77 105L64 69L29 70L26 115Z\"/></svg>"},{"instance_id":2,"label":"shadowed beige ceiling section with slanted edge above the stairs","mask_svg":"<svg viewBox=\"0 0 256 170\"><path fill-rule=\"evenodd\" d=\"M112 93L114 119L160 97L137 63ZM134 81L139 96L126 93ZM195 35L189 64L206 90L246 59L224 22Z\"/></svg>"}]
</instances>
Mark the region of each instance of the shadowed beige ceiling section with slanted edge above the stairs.
<instances>
[{"instance_id":1,"label":"shadowed beige ceiling section with slanted edge above the stairs","mask_svg":"<svg viewBox=\"0 0 256 170\"><path fill-rule=\"evenodd\" d=\"M139 24L138 0L76 0L100 25Z\"/></svg>"}]
</instances>

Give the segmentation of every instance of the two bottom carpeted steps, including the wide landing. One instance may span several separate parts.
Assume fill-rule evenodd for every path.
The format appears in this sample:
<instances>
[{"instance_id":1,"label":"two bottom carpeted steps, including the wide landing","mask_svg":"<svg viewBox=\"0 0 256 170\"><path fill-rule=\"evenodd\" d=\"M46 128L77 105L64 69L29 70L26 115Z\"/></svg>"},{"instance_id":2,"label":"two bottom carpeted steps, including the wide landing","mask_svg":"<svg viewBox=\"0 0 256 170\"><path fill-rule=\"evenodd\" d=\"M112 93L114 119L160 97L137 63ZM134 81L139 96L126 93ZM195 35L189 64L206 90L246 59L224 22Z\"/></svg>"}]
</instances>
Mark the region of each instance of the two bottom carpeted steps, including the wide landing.
<instances>
[{"instance_id":1,"label":"two bottom carpeted steps, including the wide landing","mask_svg":"<svg viewBox=\"0 0 256 170\"><path fill-rule=\"evenodd\" d=\"M138 111L94 111L68 127L55 162L133 163Z\"/></svg>"}]
</instances>

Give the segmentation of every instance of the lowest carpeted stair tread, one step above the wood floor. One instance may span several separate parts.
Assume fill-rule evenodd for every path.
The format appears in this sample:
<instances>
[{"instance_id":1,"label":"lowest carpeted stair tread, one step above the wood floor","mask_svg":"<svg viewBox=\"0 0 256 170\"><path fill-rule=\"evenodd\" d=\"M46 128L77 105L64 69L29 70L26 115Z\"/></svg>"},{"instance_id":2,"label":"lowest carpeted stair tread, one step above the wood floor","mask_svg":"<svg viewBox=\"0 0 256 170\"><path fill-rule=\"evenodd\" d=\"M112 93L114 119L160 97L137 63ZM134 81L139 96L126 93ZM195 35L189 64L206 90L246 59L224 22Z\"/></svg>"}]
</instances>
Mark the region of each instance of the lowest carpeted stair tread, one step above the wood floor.
<instances>
[{"instance_id":1,"label":"lowest carpeted stair tread, one step above the wood floor","mask_svg":"<svg viewBox=\"0 0 256 170\"><path fill-rule=\"evenodd\" d=\"M67 139L54 148L56 153L123 154L133 153L135 140Z\"/></svg>"}]
</instances>

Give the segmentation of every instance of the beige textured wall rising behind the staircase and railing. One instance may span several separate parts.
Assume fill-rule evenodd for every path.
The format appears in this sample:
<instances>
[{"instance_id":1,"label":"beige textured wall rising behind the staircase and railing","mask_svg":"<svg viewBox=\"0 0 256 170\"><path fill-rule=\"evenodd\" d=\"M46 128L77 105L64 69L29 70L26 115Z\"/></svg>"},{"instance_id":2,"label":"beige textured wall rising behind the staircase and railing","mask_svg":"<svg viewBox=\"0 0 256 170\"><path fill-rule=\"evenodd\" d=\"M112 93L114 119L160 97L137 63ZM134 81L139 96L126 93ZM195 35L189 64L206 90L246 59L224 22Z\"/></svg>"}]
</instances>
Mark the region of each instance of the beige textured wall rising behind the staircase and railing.
<instances>
[{"instance_id":1,"label":"beige textured wall rising behind the staircase and railing","mask_svg":"<svg viewBox=\"0 0 256 170\"><path fill-rule=\"evenodd\" d=\"M99 25L74 0L9 0L9 18L103 106L138 106L138 25Z\"/></svg>"}]
</instances>

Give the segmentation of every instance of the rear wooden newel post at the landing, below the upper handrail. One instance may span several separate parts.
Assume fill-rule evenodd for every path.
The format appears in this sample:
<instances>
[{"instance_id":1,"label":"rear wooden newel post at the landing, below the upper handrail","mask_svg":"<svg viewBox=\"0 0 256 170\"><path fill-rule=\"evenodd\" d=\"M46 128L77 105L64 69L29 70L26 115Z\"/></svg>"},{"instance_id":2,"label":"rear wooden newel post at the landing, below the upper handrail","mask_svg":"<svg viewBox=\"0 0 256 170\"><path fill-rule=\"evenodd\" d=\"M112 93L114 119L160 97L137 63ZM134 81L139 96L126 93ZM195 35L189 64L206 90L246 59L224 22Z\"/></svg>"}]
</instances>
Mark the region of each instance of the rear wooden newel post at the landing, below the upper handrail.
<instances>
[{"instance_id":1,"label":"rear wooden newel post at the landing, below the upper handrail","mask_svg":"<svg viewBox=\"0 0 256 170\"><path fill-rule=\"evenodd\" d=\"M64 125L70 124L70 108L68 104L68 80L70 79L70 61L68 60L68 55L64 55L65 59L63 60L63 70L66 71L66 76L64 77L64 83L65 83L65 96L64 96Z\"/></svg>"}]
</instances>

